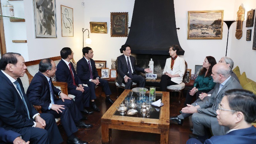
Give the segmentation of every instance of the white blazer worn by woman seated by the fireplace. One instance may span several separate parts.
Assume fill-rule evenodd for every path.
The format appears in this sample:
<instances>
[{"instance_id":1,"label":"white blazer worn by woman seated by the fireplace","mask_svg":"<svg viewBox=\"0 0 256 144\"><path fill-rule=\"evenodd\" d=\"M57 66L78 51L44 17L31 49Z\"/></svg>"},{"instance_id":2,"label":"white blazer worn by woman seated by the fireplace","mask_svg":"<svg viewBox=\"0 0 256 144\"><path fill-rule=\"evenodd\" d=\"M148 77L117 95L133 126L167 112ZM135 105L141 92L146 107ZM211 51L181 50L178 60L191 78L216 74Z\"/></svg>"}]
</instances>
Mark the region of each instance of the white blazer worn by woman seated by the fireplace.
<instances>
[{"instance_id":1,"label":"white blazer worn by woman seated by the fireplace","mask_svg":"<svg viewBox=\"0 0 256 144\"><path fill-rule=\"evenodd\" d=\"M164 71L170 73L171 75L176 75L179 74L179 77L173 77L171 81L174 83L180 84L183 80L183 75L185 73L185 60L180 58L179 56L176 58L173 68L171 69L171 58L166 59L165 66L164 66Z\"/></svg>"}]
</instances>

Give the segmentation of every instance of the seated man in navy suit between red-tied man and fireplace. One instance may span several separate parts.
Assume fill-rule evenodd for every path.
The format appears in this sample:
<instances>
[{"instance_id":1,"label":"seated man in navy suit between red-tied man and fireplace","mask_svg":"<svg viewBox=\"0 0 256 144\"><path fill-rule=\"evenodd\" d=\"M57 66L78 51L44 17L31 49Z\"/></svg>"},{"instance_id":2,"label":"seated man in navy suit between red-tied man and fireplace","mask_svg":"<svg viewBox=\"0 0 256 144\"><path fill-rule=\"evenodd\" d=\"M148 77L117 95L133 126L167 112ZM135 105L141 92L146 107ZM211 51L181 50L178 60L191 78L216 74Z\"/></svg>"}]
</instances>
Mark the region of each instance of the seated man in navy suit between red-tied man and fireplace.
<instances>
[{"instance_id":1,"label":"seated man in navy suit between red-tied man and fireplace","mask_svg":"<svg viewBox=\"0 0 256 144\"><path fill-rule=\"evenodd\" d=\"M87 84L91 89L91 100L96 99L95 86L100 85L106 94L106 102L113 104L114 101L110 99L109 95L111 91L108 86L108 81L101 79L98 75L98 71L95 67L95 61L92 60L93 51L90 47L84 47L83 50L84 57L77 62L76 71L77 75L83 84Z\"/></svg>"}]
</instances>

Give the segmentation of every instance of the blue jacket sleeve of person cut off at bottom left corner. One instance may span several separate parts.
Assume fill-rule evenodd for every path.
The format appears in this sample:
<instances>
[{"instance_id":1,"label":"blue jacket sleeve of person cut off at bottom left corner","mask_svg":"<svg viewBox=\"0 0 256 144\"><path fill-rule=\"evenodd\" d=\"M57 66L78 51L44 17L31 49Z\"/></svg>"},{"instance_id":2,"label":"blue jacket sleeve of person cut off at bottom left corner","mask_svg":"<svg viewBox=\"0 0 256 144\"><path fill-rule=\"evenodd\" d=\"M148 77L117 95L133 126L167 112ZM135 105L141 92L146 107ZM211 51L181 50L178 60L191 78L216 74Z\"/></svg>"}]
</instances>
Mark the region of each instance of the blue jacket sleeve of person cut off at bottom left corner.
<instances>
[{"instance_id":1,"label":"blue jacket sleeve of person cut off at bottom left corner","mask_svg":"<svg viewBox=\"0 0 256 144\"><path fill-rule=\"evenodd\" d=\"M11 130L7 131L4 128L0 127L0 143L3 141L5 143L13 143L20 134L17 132L13 132Z\"/></svg>"}]
</instances>

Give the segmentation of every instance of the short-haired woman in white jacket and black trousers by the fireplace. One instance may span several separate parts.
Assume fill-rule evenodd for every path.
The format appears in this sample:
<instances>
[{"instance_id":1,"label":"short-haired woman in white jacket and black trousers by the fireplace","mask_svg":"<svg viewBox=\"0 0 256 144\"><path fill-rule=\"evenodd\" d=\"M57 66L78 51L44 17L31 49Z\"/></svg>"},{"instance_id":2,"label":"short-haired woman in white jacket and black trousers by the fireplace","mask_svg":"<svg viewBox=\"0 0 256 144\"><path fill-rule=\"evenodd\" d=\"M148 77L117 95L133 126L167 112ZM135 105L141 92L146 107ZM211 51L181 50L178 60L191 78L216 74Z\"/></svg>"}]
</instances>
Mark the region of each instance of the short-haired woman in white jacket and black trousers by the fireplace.
<instances>
[{"instance_id":1,"label":"short-haired woman in white jacket and black trousers by the fireplace","mask_svg":"<svg viewBox=\"0 0 256 144\"><path fill-rule=\"evenodd\" d=\"M185 73L185 60L180 58L177 53L180 48L178 45L172 45L169 47L169 53L171 58L166 59L164 71L161 81L160 90L166 92L166 88L169 85L180 84L183 80Z\"/></svg>"}]
</instances>

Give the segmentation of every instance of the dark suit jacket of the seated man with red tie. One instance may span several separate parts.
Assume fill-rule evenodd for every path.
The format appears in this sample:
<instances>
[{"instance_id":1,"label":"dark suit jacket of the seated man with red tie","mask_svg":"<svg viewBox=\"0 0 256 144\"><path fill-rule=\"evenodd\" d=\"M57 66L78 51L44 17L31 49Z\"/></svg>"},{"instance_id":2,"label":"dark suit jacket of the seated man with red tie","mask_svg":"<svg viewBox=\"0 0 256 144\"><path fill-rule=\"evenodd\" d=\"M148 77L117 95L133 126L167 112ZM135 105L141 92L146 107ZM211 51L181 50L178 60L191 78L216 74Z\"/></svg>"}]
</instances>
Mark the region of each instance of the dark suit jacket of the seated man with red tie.
<instances>
[{"instance_id":1,"label":"dark suit jacket of the seated man with red tie","mask_svg":"<svg viewBox=\"0 0 256 144\"><path fill-rule=\"evenodd\" d=\"M79 77L76 74L76 71L74 69L74 66L72 64L72 62L70 62L71 64L71 69L74 73L74 78L75 78L75 82L76 84L82 84L81 80L79 79ZM76 85L73 84L73 79L72 79L72 75L70 73L69 67L66 65L66 63L61 59L60 62L57 65L57 70L56 70L56 81L58 82L66 82L68 83L68 89L70 90L76 90Z\"/></svg>"}]
</instances>

